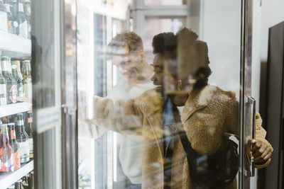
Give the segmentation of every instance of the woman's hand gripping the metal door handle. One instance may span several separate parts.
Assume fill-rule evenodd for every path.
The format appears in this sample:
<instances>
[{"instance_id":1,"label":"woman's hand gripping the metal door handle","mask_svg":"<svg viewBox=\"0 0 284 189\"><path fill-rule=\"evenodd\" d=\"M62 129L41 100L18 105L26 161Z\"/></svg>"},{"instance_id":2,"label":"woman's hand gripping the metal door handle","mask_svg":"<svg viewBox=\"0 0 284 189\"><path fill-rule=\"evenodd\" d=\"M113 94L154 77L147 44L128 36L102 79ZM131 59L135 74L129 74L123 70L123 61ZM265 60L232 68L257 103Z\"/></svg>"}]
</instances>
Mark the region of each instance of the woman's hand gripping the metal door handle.
<instances>
[{"instance_id":1,"label":"woman's hand gripping the metal door handle","mask_svg":"<svg viewBox=\"0 0 284 189\"><path fill-rule=\"evenodd\" d=\"M252 145L252 149L251 146ZM261 140L249 139L248 149L253 152L253 161L256 164L264 164L268 159L271 158L272 152L268 145ZM251 153L249 153L251 154Z\"/></svg>"}]
</instances>

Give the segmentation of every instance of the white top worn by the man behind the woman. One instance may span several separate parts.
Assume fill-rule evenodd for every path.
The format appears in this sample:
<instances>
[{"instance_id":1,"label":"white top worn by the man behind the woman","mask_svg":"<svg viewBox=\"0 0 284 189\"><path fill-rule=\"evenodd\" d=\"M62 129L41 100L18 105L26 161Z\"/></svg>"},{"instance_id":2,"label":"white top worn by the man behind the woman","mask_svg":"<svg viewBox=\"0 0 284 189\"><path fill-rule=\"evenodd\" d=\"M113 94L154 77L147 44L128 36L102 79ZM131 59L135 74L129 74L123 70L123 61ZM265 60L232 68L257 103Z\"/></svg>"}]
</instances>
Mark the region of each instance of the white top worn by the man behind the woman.
<instances>
[{"instance_id":1,"label":"white top worn by the man behind the woman","mask_svg":"<svg viewBox=\"0 0 284 189\"><path fill-rule=\"evenodd\" d=\"M144 91L154 88L151 77L138 81L134 84L122 80L111 89L107 98L111 98L114 103L118 100L128 101L131 98L141 96ZM141 136L130 134L119 134L120 150L119 160L122 170L131 183L142 183L142 149L143 139Z\"/></svg>"}]
</instances>

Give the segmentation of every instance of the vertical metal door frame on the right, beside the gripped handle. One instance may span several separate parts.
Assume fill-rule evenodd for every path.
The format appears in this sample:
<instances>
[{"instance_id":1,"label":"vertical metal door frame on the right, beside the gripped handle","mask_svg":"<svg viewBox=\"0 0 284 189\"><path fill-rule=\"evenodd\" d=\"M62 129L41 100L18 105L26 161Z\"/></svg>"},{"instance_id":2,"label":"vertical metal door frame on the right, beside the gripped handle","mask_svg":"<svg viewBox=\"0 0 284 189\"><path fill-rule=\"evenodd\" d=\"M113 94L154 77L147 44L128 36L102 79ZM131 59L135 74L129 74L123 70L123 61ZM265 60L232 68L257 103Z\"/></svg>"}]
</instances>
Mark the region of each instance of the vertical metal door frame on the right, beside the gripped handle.
<instances>
[{"instance_id":1,"label":"vertical metal door frame on the right, beside the gripped handle","mask_svg":"<svg viewBox=\"0 0 284 189\"><path fill-rule=\"evenodd\" d=\"M241 99L240 99L240 149L241 154L239 164L241 170L239 171L239 188L250 188L251 176L254 174L254 167L247 161L246 144L247 138L253 137L253 132L248 133L253 122L247 120L254 120L251 118L251 105L248 105L247 99L251 97L251 55L252 55L252 30L253 30L253 1L242 0L241 13ZM251 170L249 170L251 168Z\"/></svg>"}]
</instances>

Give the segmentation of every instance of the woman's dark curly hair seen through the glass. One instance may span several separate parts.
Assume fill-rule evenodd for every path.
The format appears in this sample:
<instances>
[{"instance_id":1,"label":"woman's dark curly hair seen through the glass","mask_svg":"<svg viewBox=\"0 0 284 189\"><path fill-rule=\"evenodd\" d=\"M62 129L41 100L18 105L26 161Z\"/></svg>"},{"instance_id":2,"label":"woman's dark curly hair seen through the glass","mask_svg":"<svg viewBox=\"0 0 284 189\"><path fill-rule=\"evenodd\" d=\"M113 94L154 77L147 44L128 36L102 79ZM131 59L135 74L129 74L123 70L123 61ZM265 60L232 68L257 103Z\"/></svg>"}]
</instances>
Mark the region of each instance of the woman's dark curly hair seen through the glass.
<instances>
[{"instance_id":1,"label":"woman's dark curly hair seen through the glass","mask_svg":"<svg viewBox=\"0 0 284 189\"><path fill-rule=\"evenodd\" d=\"M174 33L159 33L153 38L154 54L161 54L169 59L182 59L182 69L187 69L189 64L197 65L195 72L199 77L196 88L206 86L208 77L212 74L209 68L207 43L197 40L198 35L188 28L182 28L176 35Z\"/></svg>"}]
</instances>

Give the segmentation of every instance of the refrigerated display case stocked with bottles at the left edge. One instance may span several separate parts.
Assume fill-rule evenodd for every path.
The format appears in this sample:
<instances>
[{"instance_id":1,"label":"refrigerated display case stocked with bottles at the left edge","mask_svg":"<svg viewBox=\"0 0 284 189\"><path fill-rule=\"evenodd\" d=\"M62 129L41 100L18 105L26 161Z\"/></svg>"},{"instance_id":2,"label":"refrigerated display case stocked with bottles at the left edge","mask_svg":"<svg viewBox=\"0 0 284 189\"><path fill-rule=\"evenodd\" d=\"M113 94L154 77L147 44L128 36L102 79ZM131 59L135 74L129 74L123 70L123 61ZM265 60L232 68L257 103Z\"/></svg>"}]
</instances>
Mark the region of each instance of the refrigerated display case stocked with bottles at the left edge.
<instances>
[{"instance_id":1,"label":"refrigerated display case stocked with bottles at the left edge","mask_svg":"<svg viewBox=\"0 0 284 189\"><path fill-rule=\"evenodd\" d=\"M33 188L31 77L26 82L23 81L28 74L31 76L31 64L29 63L31 60L31 1L25 3L16 1L13 4L12 1L0 1L0 6L1 75L4 75L6 79L1 83L1 86L6 85L6 88L1 88L0 118L1 129L4 130L1 130L0 188L9 188L16 182L27 187L28 180L19 182L21 178L28 178L29 187ZM3 28L5 24L6 29ZM10 79L6 77L5 72L7 71L10 72ZM9 84L9 82L12 83ZM3 103L4 98L8 98L6 105ZM7 144L8 139L10 139L8 144L11 145ZM6 144L2 144L4 141ZM4 145L10 147L12 151L6 153Z\"/></svg>"}]
</instances>

